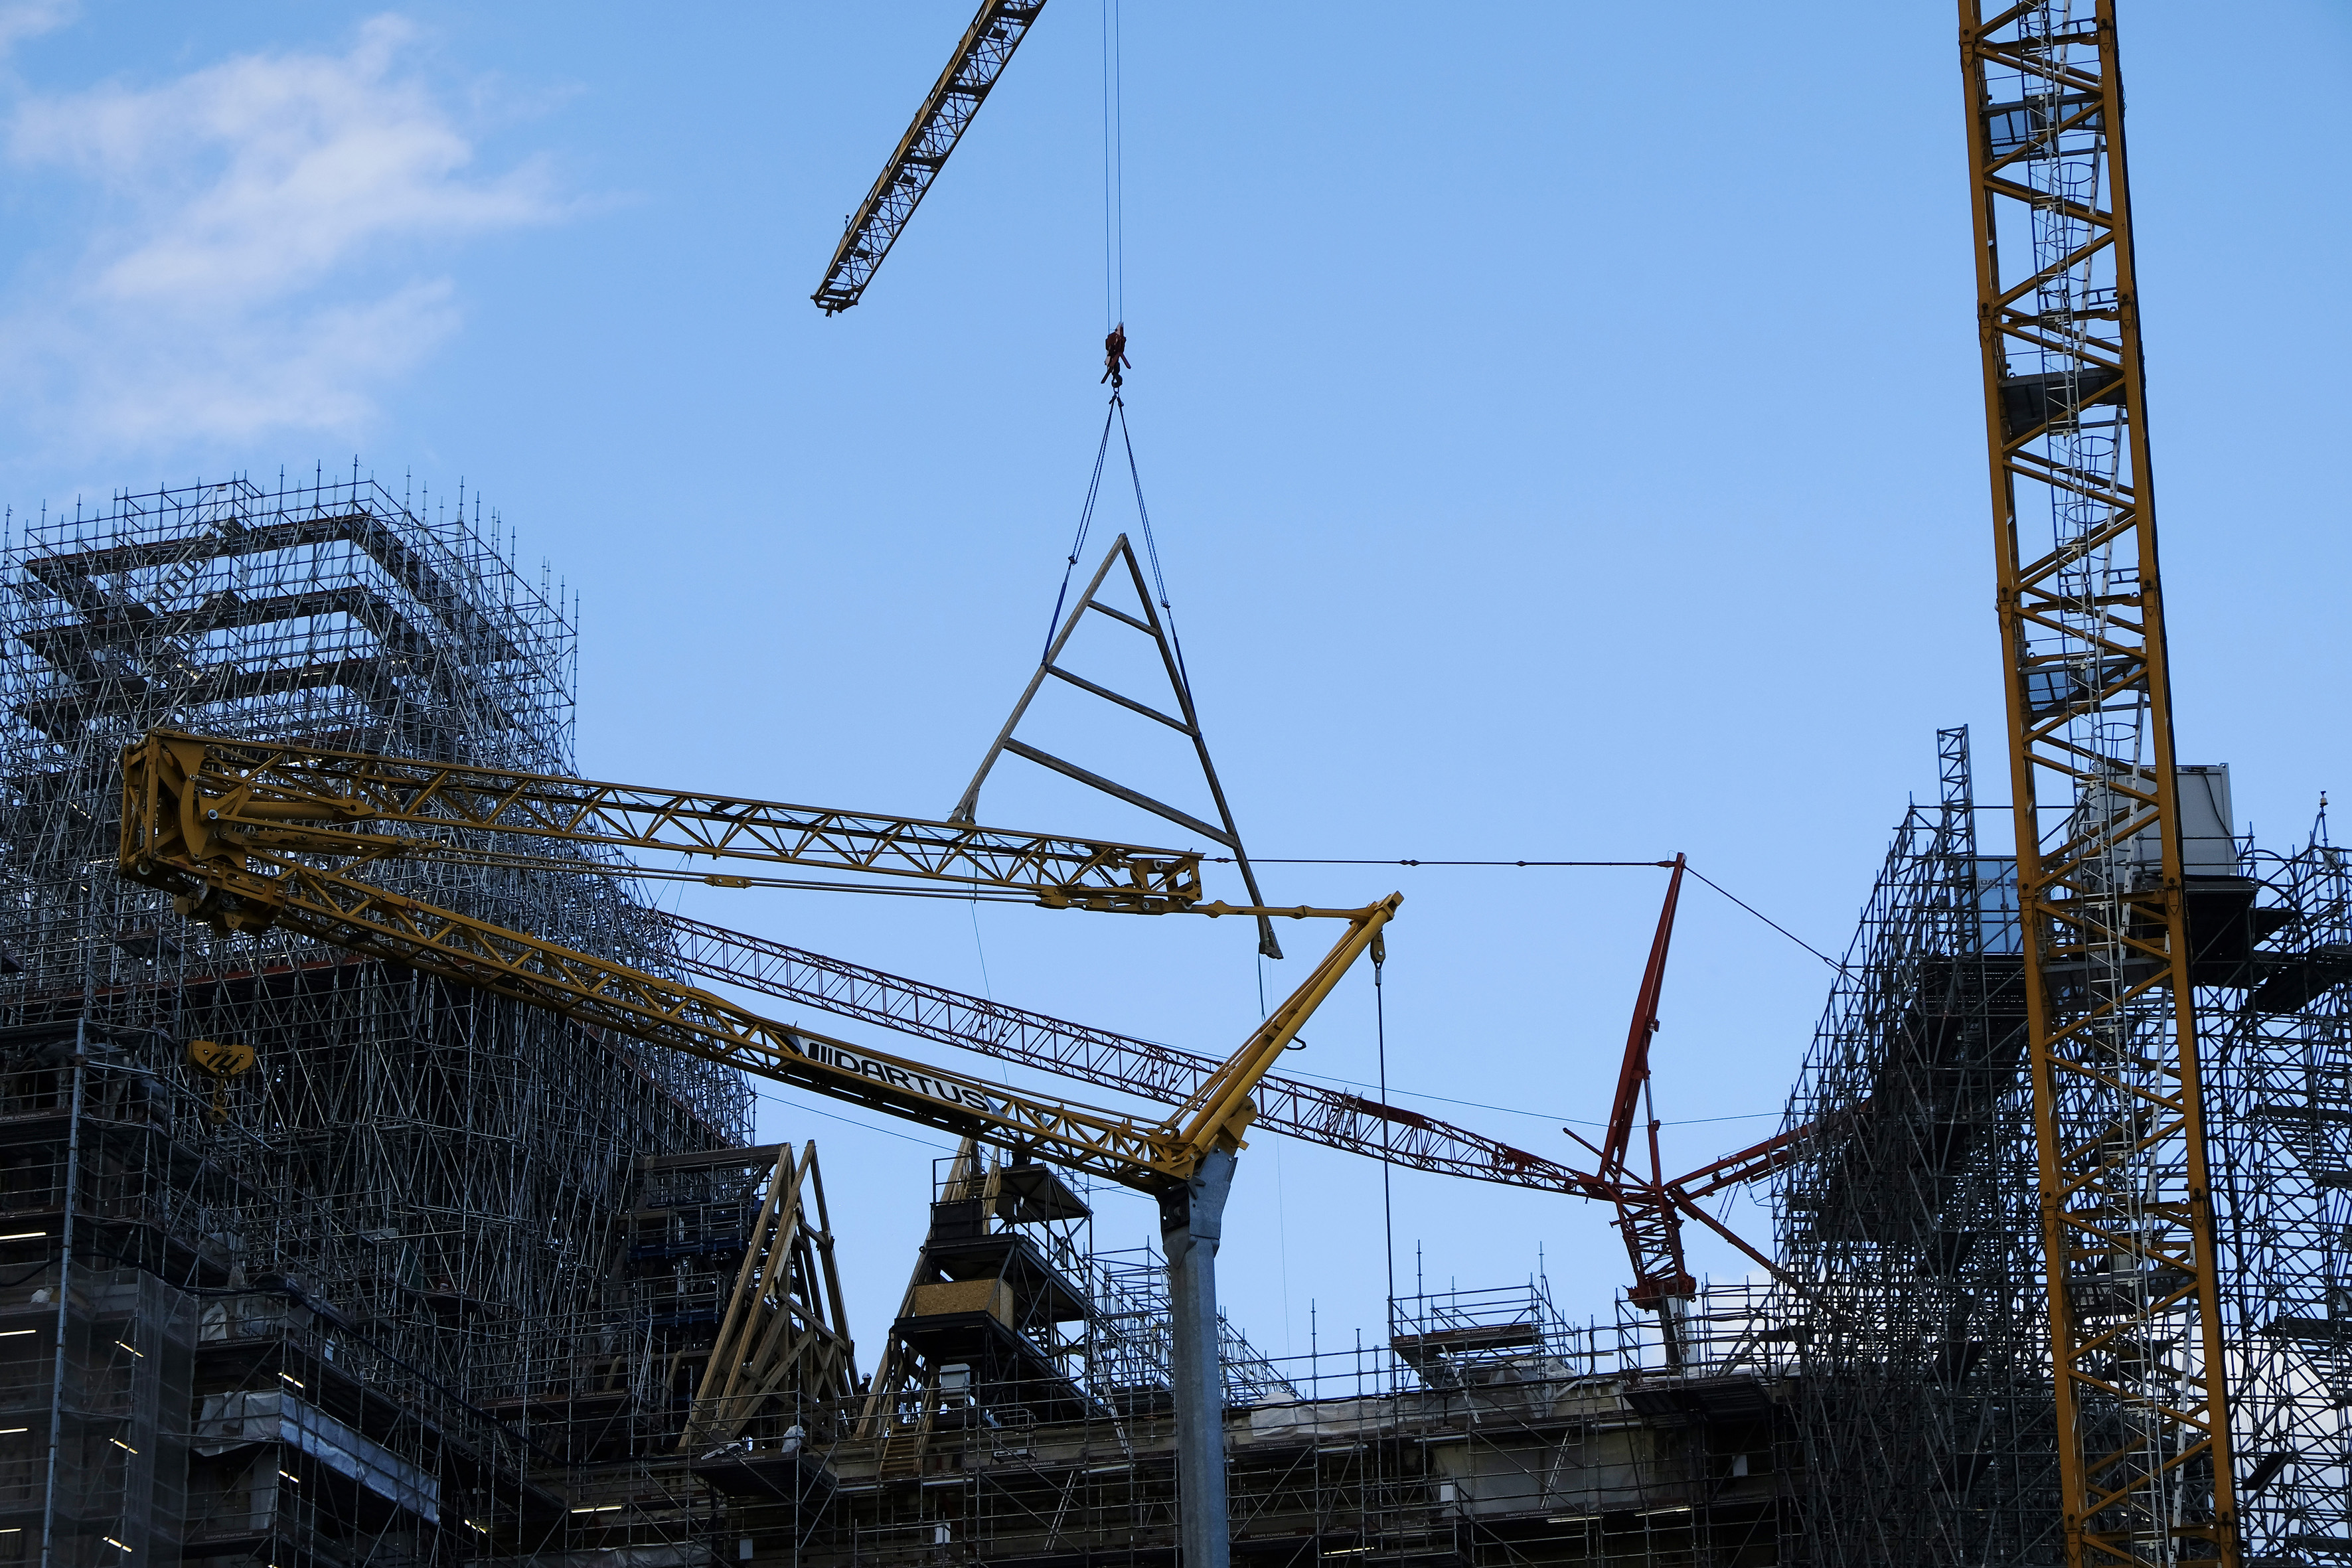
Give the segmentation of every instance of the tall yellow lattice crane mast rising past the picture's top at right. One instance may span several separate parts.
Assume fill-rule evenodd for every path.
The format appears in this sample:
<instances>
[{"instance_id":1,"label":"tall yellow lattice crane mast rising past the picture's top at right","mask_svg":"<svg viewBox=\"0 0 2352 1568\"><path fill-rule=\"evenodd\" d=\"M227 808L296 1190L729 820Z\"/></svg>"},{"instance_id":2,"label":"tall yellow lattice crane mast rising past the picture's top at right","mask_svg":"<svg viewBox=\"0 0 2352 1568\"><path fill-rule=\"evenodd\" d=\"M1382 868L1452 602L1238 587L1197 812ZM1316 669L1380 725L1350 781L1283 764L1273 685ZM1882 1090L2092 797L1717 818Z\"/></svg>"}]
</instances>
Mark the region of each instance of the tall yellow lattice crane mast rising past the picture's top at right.
<instances>
[{"instance_id":1,"label":"tall yellow lattice crane mast rising past the picture's top at right","mask_svg":"<svg viewBox=\"0 0 2352 1568\"><path fill-rule=\"evenodd\" d=\"M2234 1566L2114 5L1959 40L2065 1552Z\"/></svg>"}]
</instances>

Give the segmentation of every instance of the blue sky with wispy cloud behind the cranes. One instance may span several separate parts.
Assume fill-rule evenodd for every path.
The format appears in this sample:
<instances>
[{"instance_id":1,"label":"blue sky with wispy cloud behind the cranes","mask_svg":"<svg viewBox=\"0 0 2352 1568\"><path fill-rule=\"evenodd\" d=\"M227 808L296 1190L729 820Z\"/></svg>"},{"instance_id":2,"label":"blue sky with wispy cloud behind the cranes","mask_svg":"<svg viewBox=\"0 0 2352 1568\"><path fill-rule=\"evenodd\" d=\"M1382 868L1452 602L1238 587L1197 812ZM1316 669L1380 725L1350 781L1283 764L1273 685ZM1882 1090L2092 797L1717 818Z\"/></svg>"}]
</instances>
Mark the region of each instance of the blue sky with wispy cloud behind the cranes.
<instances>
[{"instance_id":1,"label":"blue sky with wispy cloud behind the cranes","mask_svg":"<svg viewBox=\"0 0 2352 1568\"><path fill-rule=\"evenodd\" d=\"M967 19L0 5L0 496L463 480L581 597L583 769L943 813L1035 663L1101 425L1101 0L1047 9L866 303L807 294ZM2279 842L2352 788L2352 14L2129 0L2122 33L2180 745ZM1261 856L1689 851L1839 950L1933 729L1999 778L1952 38L1936 5L1127 5L1136 451ZM1096 548L1129 524L1108 503ZM1018 771L983 818L1169 837ZM1390 1081L1571 1154L1663 877L1268 875L1390 889ZM1258 1011L1230 922L691 907L1200 1051ZM1312 940L1284 936L1270 990ZM1771 1131L1825 987L1691 891L1672 1161ZM1298 1070L1374 1077L1367 976L1308 1039ZM818 1138L870 1361L938 1150L783 1095L762 1131ZM1399 1175L1392 1234L1432 1284L1541 1248L1578 1316L1623 1274L1566 1199ZM1254 1143L1225 1300L1265 1349L1308 1347L1310 1302L1327 1345L1376 1338L1381 1251L1374 1164Z\"/></svg>"}]
</instances>

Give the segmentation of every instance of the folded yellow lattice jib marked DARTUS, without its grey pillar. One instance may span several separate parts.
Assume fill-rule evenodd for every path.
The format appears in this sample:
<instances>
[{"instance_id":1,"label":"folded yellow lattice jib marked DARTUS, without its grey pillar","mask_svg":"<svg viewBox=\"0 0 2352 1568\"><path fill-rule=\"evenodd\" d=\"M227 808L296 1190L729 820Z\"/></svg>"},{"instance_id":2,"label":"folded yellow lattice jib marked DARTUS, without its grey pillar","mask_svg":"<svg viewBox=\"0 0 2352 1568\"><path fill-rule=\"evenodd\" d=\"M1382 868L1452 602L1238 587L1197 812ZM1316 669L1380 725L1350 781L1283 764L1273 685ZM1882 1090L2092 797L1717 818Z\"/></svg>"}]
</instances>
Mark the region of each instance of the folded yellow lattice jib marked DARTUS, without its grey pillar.
<instances>
[{"instance_id":1,"label":"folded yellow lattice jib marked DARTUS, without its grey pillar","mask_svg":"<svg viewBox=\"0 0 2352 1568\"><path fill-rule=\"evenodd\" d=\"M1348 914L1350 929L1308 983L1275 1011L1275 1018L1211 1074L1214 1103L1188 1105L1190 1121L1178 1128L1164 1121L1143 1121L1131 1112L1030 1098L1011 1086L1000 1088L983 1079L936 1072L922 1063L823 1039L760 1018L677 978L564 947L543 936L513 931L381 886L372 875L412 839L428 846L452 846L461 844L466 832L532 832L543 823L539 818L503 820L506 806L437 816L426 811L426 802L414 792L397 811L383 809L376 797L369 797L367 816L376 823L430 830L430 835L386 835L381 856L355 856L350 835L315 825L336 818L313 816L313 806L336 809L339 799L355 799L348 790L322 788L322 773L334 773L334 778L430 773L428 783L442 804L482 792L499 778L513 783L522 776L489 778L459 764L367 752L303 752L289 745L270 745L259 759L245 757L245 752L259 750L263 748L174 731L153 731L143 743L125 748L120 872L129 882L172 893L179 914L202 919L219 931L261 933L282 926L346 952L388 959L459 985L513 997L593 1030L614 1030L654 1046L720 1060L783 1084L863 1103L882 1114L953 1128L1011 1150L1044 1152L1070 1168L1103 1175L1138 1192L1164 1192L1181 1185L1209 1154L1242 1147L1242 1133L1256 1119L1251 1091L1258 1079L1348 964L1367 947L1378 950L1378 929L1399 903L1390 893L1364 910L1284 910L1298 917ZM242 757L242 769L214 769L219 757L230 757L233 764ZM223 776L219 783L228 788L202 783L216 773ZM261 802L254 806L256 785L263 783L266 790L259 790ZM701 802L696 809L708 806L710 811L724 804L741 813L741 802L687 797L673 790L595 785L560 776L529 776L527 783L550 799L562 790L579 792L583 799L595 797L590 802L595 809L619 811L614 802L633 802L628 811L637 811L644 802L654 802L644 809L663 820L680 816L680 802ZM515 790L506 790L506 797L515 797ZM786 816L804 811L774 804L762 809ZM393 823L395 816L397 823ZM1200 858L1190 853L1169 856L1171 865L1183 867L1181 889L1143 889L1134 870L1143 856L1160 858L1162 851L1051 835L1000 835L969 823L833 811L814 816L833 823L826 830L830 837L847 832L840 830L842 820L856 823L856 835L873 839L873 846L882 851L906 849L913 842L910 835L922 837L927 830L948 830L960 846L983 842L990 856L1002 853L1002 865L983 867L995 886L1075 889L1089 905L1105 900L1098 907L1120 907L1115 898L1136 891L1136 903L1129 907L1164 898L1169 907L1202 907L1204 914L1232 912L1223 903L1197 905L1195 867ZM597 842L647 842L647 837L621 823ZM866 849L844 851L830 839L818 849L826 865L882 870ZM715 853L736 851L717 849ZM797 849L774 846L764 856L804 858ZM1101 882L1084 884L1058 875L1073 856L1084 860L1084 875L1098 875ZM318 865L320 858L329 858L334 865ZM595 856L548 858L543 870L602 875L612 870L612 863ZM891 870L938 875L938 867L924 856L903 856Z\"/></svg>"}]
</instances>

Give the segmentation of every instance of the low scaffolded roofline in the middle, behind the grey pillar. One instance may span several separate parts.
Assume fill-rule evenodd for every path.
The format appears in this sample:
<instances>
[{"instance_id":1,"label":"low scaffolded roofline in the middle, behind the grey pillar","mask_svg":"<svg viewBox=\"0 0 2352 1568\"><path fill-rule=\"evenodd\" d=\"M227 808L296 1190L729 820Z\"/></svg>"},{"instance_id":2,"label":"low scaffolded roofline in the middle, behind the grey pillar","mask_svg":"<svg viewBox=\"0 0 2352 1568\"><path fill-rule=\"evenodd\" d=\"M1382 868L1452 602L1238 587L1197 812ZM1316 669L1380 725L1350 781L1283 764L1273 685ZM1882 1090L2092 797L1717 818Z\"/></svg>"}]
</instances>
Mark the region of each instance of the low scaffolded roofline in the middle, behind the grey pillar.
<instances>
[{"instance_id":1,"label":"low scaffolded roofline in the middle, behind the grey pillar","mask_svg":"<svg viewBox=\"0 0 2352 1568\"><path fill-rule=\"evenodd\" d=\"M809 1516L739 1495L755 1563L1174 1563L1164 1260L1089 1251L1084 1187L943 1161L880 1420ZM995 1194L995 1197L988 1197ZM1061 1218L1047 1218L1049 1213ZM1221 1324L1235 1561L1802 1561L1799 1443L1752 1286L1571 1328L1550 1288L1428 1291L1383 1340L1265 1356Z\"/></svg>"}]
</instances>

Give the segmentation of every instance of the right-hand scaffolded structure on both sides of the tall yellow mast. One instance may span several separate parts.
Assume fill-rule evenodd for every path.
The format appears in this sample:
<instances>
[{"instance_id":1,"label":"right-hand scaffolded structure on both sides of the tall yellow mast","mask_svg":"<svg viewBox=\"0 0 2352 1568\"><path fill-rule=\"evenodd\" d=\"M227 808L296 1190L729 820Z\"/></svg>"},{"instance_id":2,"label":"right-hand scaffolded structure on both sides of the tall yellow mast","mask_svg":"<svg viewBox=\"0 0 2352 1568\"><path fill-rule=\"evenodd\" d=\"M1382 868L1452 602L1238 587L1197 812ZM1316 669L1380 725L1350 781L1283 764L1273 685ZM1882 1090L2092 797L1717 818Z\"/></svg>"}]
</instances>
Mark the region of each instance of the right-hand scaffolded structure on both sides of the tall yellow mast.
<instances>
[{"instance_id":1,"label":"right-hand scaffolded structure on both sides of the tall yellow mast","mask_svg":"<svg viewBox=\"0 0 2352 1568\"><path fill-rule=\"evenodd\" d=\"M1799 1154L1773 1180L1785 1284L1766 1338L1788 1347L1806 1448L1804 1561L1837 1568L2067 1549L2016 858L1978 846L1964 729L1938 731L1938 762L1846 950L1788 1107ZM2324 820L2265 851L2232 832L2225 766L2176 785L2185 853L2232 900L2199 924L2192 973L2239 1544L2324 1563L2352 1556L2352 889ZM2194 1500L2180 1523L2199 1523Z\"/></svg>"}]
</instances>

